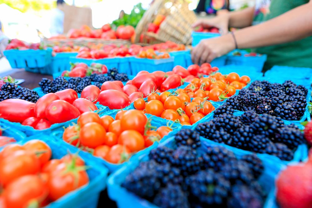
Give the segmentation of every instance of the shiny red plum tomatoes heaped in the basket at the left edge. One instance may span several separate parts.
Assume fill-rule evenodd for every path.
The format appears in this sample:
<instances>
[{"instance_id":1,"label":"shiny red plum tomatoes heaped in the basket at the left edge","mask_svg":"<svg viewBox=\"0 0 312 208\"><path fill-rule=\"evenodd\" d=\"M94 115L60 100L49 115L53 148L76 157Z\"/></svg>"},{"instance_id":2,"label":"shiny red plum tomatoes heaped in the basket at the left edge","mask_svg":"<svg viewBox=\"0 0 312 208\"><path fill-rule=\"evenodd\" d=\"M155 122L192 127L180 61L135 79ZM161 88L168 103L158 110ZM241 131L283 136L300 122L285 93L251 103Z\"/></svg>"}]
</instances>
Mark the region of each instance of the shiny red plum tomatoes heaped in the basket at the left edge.
<instances>
[{"instance_id":1,"label":"shiny red plum tomatoes heaped in the basket at the left edge","mask_svg":"<svg viewBox=\"0 0 312 208\"><path fill-rule=\"evenodd\" d=\"M45 94L36 104L22 99L3 100L0 102L0 118L41 130L97 109L90 100L78 98L75 90L64 89Z\"/></svg>"}]
</instances>

